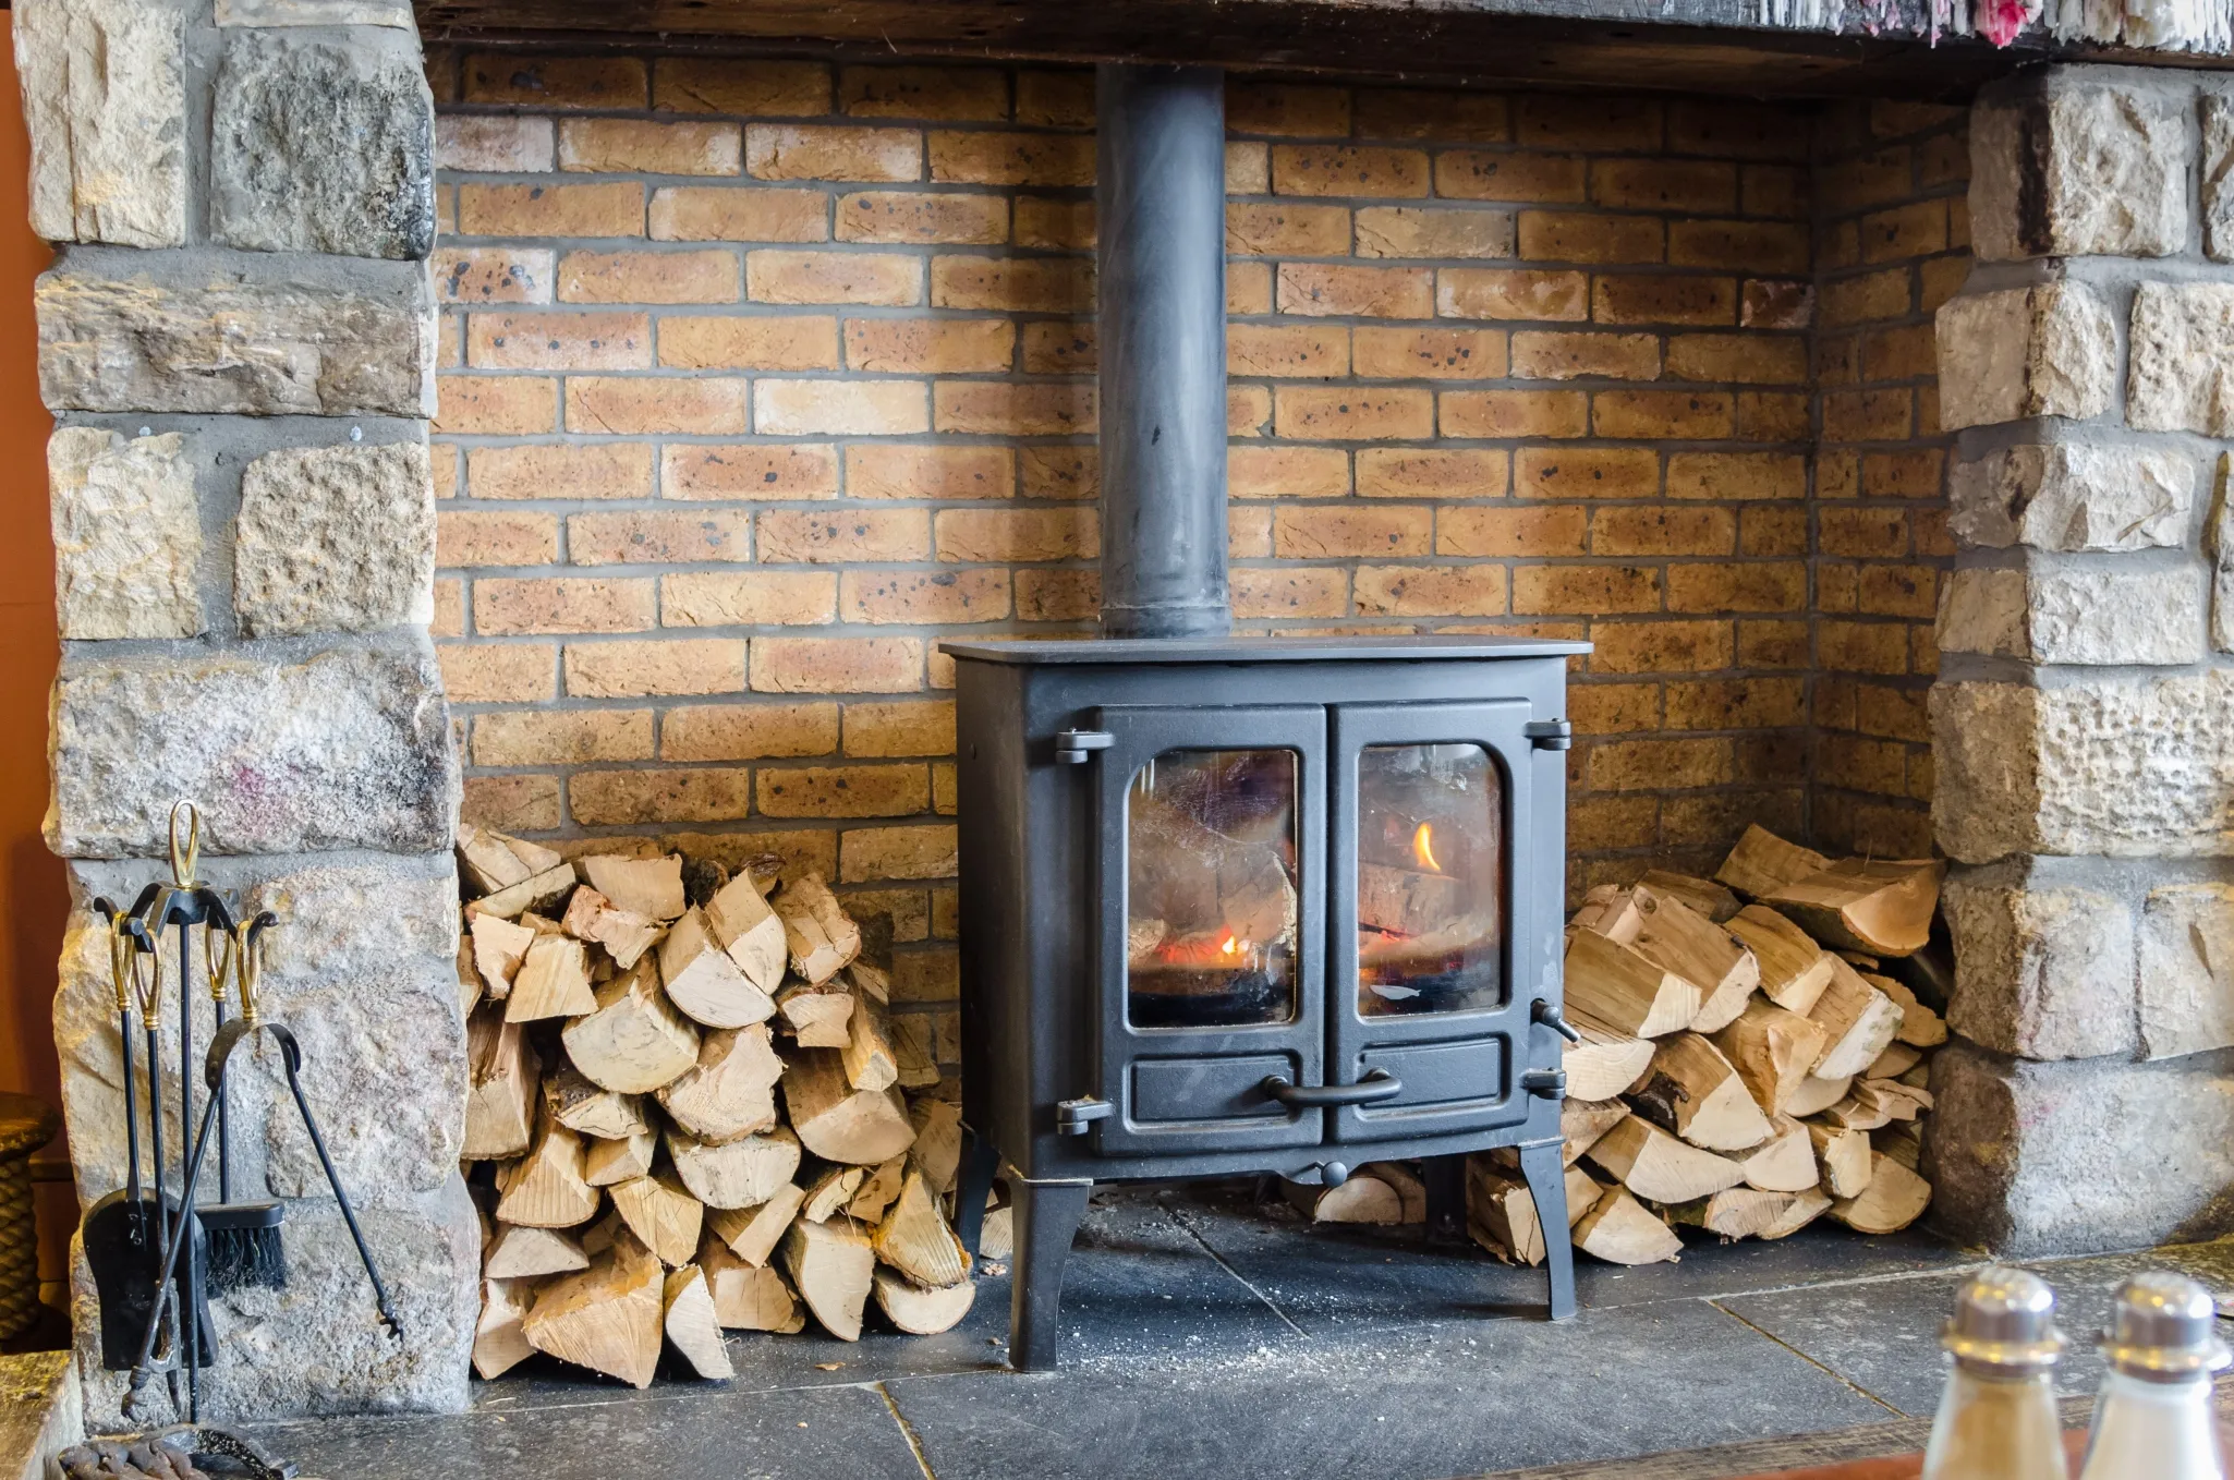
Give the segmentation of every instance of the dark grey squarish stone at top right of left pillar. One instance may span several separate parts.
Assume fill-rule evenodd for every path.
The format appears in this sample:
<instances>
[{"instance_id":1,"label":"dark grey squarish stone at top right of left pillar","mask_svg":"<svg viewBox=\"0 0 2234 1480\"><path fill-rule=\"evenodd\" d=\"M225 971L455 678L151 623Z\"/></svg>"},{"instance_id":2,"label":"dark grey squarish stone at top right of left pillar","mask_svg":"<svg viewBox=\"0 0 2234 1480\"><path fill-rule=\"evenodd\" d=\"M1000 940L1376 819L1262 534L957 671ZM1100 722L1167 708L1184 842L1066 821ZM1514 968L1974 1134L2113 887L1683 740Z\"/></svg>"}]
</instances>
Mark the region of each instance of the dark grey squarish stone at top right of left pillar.
<instances>
[{"instance_id":1,"label":"dark grey squarish stone at top right of left pillar","mask_svg":"<svg viewBox=\"0 0 2234 1480\"><path fill-rule=\"evenodd\" d=\"M235 31L210 101L210 235L266 253L433 250L433 94L409 31Z\"/></svg>"}]
</instances>

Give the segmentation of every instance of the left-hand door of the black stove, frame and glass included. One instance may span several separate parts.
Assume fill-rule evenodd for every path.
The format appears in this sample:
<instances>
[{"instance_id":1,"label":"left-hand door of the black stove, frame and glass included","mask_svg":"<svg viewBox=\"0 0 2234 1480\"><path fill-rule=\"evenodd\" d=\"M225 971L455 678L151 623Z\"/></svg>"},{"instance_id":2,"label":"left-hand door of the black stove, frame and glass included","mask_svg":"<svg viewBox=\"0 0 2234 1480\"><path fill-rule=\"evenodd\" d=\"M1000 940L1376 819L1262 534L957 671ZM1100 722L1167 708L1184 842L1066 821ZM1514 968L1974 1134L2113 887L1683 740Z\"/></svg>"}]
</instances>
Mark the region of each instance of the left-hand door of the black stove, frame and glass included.
<instances>
[{"instance_id":1,"label":"left-hand door of the black stove, frame and glass included","mask_svg":"<svg viewBox=\"0 0 2234 1480\"><path fill-rule=\"evenodd\" d=\"M1097 767L1097 1149L1316 1145L1323 1111L1327 715L1104 706Z\"/></svg>"}]
</instances>

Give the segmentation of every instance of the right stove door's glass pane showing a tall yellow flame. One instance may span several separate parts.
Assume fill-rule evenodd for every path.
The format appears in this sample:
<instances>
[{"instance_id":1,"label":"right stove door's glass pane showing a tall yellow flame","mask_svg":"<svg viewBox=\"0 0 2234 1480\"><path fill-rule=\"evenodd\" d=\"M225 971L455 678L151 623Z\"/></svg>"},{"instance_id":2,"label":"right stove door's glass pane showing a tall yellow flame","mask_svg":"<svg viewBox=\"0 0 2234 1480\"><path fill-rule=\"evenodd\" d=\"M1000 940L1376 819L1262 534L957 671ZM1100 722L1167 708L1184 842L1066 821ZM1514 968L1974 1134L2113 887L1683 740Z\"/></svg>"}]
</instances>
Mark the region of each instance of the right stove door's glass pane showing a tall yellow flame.
<instances>
[{"instance_id":1,"label":"right stove door's glass pane showing a tall yellow flame","mask_svg":"<svg viewBox=\"0 0 2234 1480\"><path fill-rule=\"evenodd\" d=\"M1503 1002L1503 778L1479 744L1358 756L1358 1015Z\"/></svg>"}]
</instances>

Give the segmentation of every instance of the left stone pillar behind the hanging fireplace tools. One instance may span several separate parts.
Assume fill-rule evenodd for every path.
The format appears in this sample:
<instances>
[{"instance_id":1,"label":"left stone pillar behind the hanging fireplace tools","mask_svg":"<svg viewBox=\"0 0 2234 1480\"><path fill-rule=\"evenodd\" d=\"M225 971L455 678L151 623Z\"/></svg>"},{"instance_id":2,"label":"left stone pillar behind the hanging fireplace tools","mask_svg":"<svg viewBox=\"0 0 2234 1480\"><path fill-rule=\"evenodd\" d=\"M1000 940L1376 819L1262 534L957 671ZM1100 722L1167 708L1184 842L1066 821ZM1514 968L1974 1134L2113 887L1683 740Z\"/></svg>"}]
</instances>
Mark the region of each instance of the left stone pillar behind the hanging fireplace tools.
<instances>
[{"instance_id":1,"label":"left stone pillar behind the hanging fireplace tools","mask_svg":"<svg viewBox=\"0 0 2234 1480\"><path fill-rule=\"evenodd\" d=\"M203 1413L460 1408L478 1221L458 1178L458 774L433 613L433 101L404 0L18 0L63 671L47 843L76 914L54 1006L85 1203L123 1185L89 901L203 874L281 917L264 1006L404 1341L286 1100L237 1060L232 1194L286 1201L288 1283L214 1299ZM176 1002L176 984L170 986ZM199 995L197 1040L210 1004ZM176 1006L168 1013L176 1091ZM172 1113L170 1165L181 1165ZM203 1183L214 1196L214 1178ZM87 1420L118 1422L76 1261Z\"/></svg>"}]
</instances>

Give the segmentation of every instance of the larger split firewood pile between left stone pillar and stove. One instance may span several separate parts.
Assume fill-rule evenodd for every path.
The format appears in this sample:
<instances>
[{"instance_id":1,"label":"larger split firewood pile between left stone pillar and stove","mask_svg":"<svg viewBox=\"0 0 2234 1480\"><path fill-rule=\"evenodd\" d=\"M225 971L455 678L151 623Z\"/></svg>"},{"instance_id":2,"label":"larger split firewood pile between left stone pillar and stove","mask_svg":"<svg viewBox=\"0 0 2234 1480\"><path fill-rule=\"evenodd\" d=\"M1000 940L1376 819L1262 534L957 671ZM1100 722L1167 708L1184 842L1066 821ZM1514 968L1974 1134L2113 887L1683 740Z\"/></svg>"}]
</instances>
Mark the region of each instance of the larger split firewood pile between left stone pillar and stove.
<instances>
[{"instance_id":1,"label":"larger split firewood pile between left stone pillar and stove","mask_svg":"<svg viewBox=\"0 0 2234 1480\"><path fill-rule=\"evenodd\" d=\"M818 874L474 827L458 861L483 1377L543 1350L643 1386L661 1341L726 1377L722 1330L853 1341L871 1294L907 1332L963 1319L961 1113Z\"/></svg>"}]
</instances>

